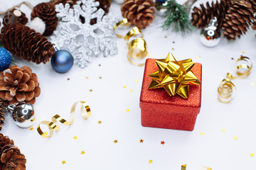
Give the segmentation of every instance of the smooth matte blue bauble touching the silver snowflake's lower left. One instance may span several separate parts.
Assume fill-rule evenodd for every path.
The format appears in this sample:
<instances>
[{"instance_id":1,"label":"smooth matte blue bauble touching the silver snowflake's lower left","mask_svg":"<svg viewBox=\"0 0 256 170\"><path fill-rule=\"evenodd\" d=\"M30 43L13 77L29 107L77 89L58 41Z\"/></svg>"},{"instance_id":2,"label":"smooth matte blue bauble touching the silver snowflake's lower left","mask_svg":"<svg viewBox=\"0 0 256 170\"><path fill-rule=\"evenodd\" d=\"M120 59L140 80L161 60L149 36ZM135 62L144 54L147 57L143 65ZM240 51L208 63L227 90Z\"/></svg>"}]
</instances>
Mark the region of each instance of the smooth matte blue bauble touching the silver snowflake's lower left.
<instances>
[{"instance_id":1,"label":"smooth matte blue bauble touching the silver snowflake's lower left","mask_svg":"<svg viewBox=\"0 0 256 170\"><path fill-rule=\"evenodd\" d=\"M53 57L51 57L50 63L56 72L65 73L73 66L74 58L70 52L66 50L58 50Z\"/></svg>"}]
</instances>

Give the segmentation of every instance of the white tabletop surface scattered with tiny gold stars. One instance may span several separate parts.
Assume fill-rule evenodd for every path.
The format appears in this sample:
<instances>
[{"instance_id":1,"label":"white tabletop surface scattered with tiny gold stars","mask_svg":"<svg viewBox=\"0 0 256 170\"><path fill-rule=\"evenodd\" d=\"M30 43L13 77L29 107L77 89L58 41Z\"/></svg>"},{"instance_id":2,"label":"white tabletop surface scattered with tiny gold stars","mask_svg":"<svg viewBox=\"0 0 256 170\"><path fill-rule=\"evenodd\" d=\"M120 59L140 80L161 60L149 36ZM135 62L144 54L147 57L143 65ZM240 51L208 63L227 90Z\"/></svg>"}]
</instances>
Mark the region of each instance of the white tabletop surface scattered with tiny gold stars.
<instances>
[{"instance_id":1,"label":"white tabletop surface scattered with tiny gold stars","mask_svg":"<svg viewBox=\"0 0 256 170\"><path fill-rule=\"evenodd\" d=\"M9 0L8 6L18 2ZM33 5L39 2L31 1ZM119 5L112 4L110 12L120 15ZM31 11L26 9L26 13L28 16ZM217 47L208 48L198 40L199 30L183 38L161 30L161 22L156 16L154 23L143 30L149 55L164 58L172 52L178 60L192 58L203 64L202 107L193 132L142 127L139 96L144 68L129 64L127 46L124 40L116 38L119 55L93 58L87 68L75 66L67 74L54 72L50 63L19 64L31 66L41 86L41 96L35 104L35 129L18 128L6 115L1 132L13 139L26 155L28 170L178 170L181 164L187 164L188 170L201 166L210 166L213 170L255 169L256 156L250 157L250 153L256 154L256 86L250 85L252 82L256 84L255 69L247 79L233 81L238 89L234 101L223 104L217 99L218 84L226 72L234 72L235 60L242 51L256 64L255 31L250 30L235 42L222 39ZM232 57L235 60L231 60ZM69 118L73 102L80 100L89 103L91 118L83 120L77 113L73 125L60 125L59 132L54 132L50 139L38 135L36 126L41 120L50 120L56 113ZM102 120L101 125L98 120ZM78 140L74 140L74 136L78 136ZM238 136L238 140L234 140L234 136ZM139 143L140 139L144 143ZM118 143L114 144L114 140ZM165 145L160 145L162 140ZM80 154L82 150L85 150L84 155ZM153 164L149 164L149 159ZM67 162L64 165L61 164L63 160Z\"/></svg>"}]
</instances>

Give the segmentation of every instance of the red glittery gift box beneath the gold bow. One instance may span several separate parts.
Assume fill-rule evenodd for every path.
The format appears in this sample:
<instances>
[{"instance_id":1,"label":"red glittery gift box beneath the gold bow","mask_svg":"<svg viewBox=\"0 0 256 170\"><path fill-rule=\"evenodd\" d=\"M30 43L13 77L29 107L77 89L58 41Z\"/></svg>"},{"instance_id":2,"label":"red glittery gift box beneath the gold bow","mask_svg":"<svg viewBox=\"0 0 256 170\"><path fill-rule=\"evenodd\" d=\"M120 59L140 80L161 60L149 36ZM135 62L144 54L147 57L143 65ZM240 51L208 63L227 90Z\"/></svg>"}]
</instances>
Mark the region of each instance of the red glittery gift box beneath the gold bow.
<instances>
[{"instance_id":1,"label":"red glittery gift box beneath the gold bow","mask_svg":"<svg viewBox=\"0 0 256 170\"><path fill-rule=\"evenodd\" d=\"M140 96L142 126L192 131L201 108L201 84L189 85L188 99L169 96L163 88L149 90L148 76L157 70L156 59L147 59ZM202 64L195 63L192 71L201 81Z\"/></svg>"}]
</instances>

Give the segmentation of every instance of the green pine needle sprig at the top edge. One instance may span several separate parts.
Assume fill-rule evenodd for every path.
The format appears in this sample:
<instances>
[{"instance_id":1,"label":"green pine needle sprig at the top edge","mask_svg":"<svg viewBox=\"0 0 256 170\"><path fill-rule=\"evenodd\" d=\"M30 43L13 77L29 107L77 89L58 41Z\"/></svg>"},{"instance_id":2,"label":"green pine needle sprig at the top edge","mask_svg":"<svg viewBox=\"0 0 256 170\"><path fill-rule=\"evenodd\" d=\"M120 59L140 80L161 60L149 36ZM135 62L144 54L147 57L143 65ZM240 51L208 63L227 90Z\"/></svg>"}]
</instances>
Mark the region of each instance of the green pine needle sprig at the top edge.
<instances>
[{"instance_id":1,"label":"green pine needle sprig at the top edge","mask_svg":"<svg viewBox=\"0 0 256 170\"><path fill-rule=\"evenodd\" d=\"M186 6L178 4L175 0L170 0L165 8L166 11L163 17L166 18L166 21L162 28L166 30L171 28L175 32L181 32L182 34L186 34L192 30L193 26L188 18L188 13L186 13Z\"/></svg>"}]
</instances>

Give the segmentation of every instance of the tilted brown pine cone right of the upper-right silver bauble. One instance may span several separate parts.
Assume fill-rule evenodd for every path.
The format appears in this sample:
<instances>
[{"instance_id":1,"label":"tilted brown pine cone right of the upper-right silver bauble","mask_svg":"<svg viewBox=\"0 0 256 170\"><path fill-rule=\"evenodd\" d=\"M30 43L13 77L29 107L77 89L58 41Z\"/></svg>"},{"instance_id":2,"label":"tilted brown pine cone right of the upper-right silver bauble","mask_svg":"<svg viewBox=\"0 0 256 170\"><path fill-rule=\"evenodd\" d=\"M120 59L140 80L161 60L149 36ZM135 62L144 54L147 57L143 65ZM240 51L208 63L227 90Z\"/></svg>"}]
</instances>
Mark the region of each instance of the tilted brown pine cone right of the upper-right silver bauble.
<instances>
[{"instance_id":1,"label":"tilted brown pine cone right of the upper-right silver bauble","mask_svg":"<svg viewBox=\"0 0 256 170\"><path fill-rule=\"evenodd\" d=\"M252 4L248 1L232 1L223 19L224 37L228 40L240 38L242 33L246 33L252 24L253 17Z\"/></svg>"}]
</instances>

